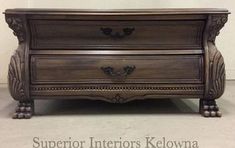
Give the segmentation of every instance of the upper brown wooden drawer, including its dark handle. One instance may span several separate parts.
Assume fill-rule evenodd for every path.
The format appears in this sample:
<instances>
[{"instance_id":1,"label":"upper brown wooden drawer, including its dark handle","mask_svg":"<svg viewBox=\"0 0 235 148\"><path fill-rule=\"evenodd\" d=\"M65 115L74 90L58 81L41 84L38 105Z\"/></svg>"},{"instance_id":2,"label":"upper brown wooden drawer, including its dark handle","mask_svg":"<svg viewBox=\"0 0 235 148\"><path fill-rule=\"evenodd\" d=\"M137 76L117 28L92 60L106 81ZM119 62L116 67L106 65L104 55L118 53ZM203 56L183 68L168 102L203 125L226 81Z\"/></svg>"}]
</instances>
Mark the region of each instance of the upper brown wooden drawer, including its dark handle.
<instances>
[{"instance_id":1,"label":"upper brown wooden drawer, including its dark handle","mask_svg":"<svg viewBox=\"0 0 235 148\"><path fill-rule=\"evenodd\" d=\"M203 20L30 20L32 49L202 49Z\"/></svg>"}]
</instances>

